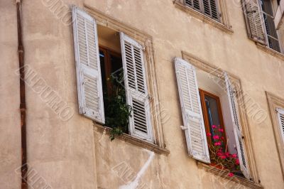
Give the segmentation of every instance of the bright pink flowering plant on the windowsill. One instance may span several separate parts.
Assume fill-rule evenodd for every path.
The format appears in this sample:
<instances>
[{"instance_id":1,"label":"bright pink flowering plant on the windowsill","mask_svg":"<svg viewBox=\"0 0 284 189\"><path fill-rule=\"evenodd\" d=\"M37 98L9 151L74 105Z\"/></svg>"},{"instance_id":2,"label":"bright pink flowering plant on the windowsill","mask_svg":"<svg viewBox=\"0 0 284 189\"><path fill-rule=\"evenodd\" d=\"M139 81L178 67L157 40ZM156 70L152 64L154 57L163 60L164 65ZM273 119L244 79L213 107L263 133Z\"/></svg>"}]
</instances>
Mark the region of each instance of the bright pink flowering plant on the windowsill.
<instances>
[{"instance_id":1,"label":"bright pink flowering plant on the windowsill","mask_svg":"<svg viewBox=\"0 0 284 189\"><path fill-rule=\"evenodd\" d=\"M229 176L233 176L236 171L240 170L239 166L239 158L234 153L231 154L228 151L228 141L226 142L225 146L225 139L223 133L224 129L220 128L220 126L212 125L213 135L211 133L207 133L207 137L212 139L212 143L209 145L210 151L210 159L213 163L221 166L222 169L226 168L229 169Z\"/></svg>"}]
</instances>

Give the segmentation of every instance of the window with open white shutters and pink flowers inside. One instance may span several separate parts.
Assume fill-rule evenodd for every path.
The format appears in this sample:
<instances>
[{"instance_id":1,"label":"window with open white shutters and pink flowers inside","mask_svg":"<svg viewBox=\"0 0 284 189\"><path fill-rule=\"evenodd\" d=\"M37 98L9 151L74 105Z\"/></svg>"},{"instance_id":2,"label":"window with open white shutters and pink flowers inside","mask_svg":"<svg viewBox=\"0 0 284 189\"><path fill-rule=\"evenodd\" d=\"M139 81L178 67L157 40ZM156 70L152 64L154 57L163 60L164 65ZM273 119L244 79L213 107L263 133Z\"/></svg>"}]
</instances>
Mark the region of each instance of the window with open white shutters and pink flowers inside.
<instances>
[{"instance_id":1,"label":"window with open white shutters and pink flowers inside","mask_svg":"<svg viewBox=\"0 0 284 189\"><path fill-rule=\"evenodd\" d=\"M198 161L214 163L209 156L209 146L214 141L213 136L217 134L212 129L213 125L218 125L220 129L224 129L222 151L236 153L241 175L251 179L236 100L236 85L226 72L222 73L223 79L218 80L224 85L219 85L216 80L208 77L208 72L196 69L180 58L175 58L175 70L189 155ZM206 136L208 133L211 133L211 137Z\"/></svg>"}]
</instances>

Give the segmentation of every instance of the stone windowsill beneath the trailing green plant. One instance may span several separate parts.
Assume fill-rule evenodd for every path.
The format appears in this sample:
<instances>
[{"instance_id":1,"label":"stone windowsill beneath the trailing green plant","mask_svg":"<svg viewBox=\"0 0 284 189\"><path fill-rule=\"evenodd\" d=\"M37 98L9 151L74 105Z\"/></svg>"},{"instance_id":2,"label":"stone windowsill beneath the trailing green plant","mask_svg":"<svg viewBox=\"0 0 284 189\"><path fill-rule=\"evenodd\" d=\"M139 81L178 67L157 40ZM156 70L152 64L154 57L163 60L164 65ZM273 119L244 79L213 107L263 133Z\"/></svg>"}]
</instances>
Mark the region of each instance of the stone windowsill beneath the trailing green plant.
<instances>
[{"instance_id":1,"label":"stone windowsill beneath the trailing green plant","mask_svg":"<svg viewBox=\"0 0 284 189\"><path fill-rule=\"evenodd\" d=\"M106 132L106 134L110 135L111 128L94 123L94 131L99 131L101 133ZM129 134L121 134L120 136L116 136L116 139L120 139L122 141L129 142L130 144L140 146L141 148L146 148L146 149L153 151L155 153L165 154L165 155L168 155L170 153L170 151L166 148L161 148L160 146L157 146L155 144L151 144L148 141L143 141L141 139L137 139L137 138L135 138L135 137L133 137Z\"/></svg>"}]
</instances>

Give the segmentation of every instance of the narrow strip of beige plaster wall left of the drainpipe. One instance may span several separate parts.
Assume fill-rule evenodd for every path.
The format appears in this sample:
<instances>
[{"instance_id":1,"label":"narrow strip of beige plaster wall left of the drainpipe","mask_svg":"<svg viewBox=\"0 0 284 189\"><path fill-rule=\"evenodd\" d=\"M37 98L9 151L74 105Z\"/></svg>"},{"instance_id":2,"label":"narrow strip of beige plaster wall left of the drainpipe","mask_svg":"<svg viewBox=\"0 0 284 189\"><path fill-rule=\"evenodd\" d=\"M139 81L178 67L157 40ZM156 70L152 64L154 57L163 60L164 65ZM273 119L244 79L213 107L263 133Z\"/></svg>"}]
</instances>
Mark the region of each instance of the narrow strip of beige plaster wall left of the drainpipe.
<instances>
[{"instance_id":1,"label":"narrow strip of beige plaster wall left of the drainpipe","mask_svg":"<svg viewBox=\"0 0 284 189\"><path fill-rule=\"evenodd\" d=\"M21 123L19 114L16 6L0 1L0 188L18 188L21 175Z\"/></svg>"}]
</instances>

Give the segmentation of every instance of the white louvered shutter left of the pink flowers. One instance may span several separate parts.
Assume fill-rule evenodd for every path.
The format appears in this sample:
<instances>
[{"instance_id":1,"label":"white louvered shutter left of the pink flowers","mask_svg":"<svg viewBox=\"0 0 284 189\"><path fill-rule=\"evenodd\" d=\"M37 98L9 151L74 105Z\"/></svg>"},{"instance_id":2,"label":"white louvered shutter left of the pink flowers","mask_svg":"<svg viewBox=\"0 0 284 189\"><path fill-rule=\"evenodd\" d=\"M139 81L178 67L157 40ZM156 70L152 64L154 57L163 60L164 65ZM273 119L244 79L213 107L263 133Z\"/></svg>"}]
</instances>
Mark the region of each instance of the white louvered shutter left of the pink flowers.
<instances>
[{"instance_id":1,"label":"white louvered shutter left of the pink flowers","mask_svg":"<svg viewBox=\"0 0 284 189\"><path fill-rule=\"evenodd\" d=\"M195 67L185 60L175 58L175 72L187 151L193 158L210 163Z\"/></svg>"}]
</instances>

